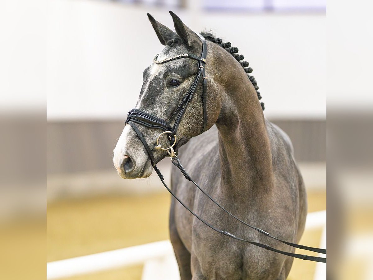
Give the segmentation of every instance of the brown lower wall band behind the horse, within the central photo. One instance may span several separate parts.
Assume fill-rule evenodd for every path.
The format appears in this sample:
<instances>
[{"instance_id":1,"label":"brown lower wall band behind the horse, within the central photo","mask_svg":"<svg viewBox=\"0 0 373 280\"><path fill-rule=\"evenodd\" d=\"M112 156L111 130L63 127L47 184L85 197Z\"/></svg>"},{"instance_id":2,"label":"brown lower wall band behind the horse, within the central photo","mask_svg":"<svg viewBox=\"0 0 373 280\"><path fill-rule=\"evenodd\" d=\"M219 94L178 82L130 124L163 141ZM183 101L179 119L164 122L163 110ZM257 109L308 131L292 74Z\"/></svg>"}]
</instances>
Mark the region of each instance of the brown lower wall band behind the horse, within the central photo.
<instances>
[{"instance_id":1,"label":"brown lower wall band behind the horse, within the central photo","mask_svg":"<svg viewBox=\"0 0 373 280\"><path fill-rule=\"evenodd\" d=\"M272 120L292 140L298 161L326 161L326 121ZM47 174L112 169L124 121L47 124Z\"/></svg>"}]
</instances>

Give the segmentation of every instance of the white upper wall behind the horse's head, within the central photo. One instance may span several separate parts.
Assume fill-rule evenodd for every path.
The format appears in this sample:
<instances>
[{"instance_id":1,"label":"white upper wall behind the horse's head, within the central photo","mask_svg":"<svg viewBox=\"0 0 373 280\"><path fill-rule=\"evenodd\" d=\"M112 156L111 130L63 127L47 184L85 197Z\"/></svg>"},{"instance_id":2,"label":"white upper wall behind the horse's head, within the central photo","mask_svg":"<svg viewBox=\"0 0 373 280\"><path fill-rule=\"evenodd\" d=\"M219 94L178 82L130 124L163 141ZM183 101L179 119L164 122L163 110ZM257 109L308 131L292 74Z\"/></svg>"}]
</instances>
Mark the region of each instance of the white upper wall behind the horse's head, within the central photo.
<instances>
[{"instance_id":1,"label":"white upper wall behind the horse's head, within the central photo","mask_svg":"<svg viewBox=\"0 0 373 280\"><path fill-rule=\"evenodd\" d=\"M162 50L147 12L173 28L165 9L49 1L48 119L125 119L142 71ZM214 29L239 48L254 69L267 117L326 117L326 15L174 12L193 30Z\"/></svg>"}]
</instances>

